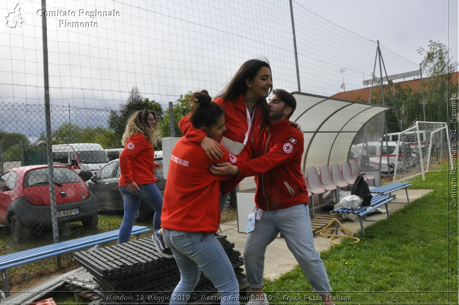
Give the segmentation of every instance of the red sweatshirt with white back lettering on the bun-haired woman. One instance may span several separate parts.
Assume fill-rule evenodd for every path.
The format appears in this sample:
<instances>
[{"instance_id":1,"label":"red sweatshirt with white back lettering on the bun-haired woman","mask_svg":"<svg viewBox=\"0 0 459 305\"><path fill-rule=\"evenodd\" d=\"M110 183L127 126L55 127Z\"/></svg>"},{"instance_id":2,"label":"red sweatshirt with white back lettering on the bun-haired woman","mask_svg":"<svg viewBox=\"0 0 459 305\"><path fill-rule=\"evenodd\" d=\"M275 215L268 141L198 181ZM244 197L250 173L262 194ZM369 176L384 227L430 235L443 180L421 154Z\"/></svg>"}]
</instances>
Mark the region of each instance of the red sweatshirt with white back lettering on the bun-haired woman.
<instances>
[{"instance_id":1,"label":"red sweatshirt with white back lettering on the bun-haired woman","mask_svg":"<svg viewBox=\"0 0 459 305\"><path fill-rule=\"evenodd\" d=\"M212 175L209 166L238 157L221 147L218 161L207 158L201 145L179 139L172 150L162 201L161 226L185 232L217 232L220 224L220 182L230 176Z\"/></svg>"}]
</instances>

